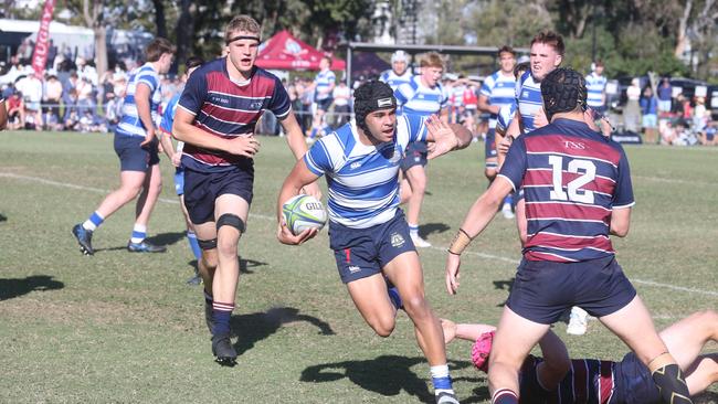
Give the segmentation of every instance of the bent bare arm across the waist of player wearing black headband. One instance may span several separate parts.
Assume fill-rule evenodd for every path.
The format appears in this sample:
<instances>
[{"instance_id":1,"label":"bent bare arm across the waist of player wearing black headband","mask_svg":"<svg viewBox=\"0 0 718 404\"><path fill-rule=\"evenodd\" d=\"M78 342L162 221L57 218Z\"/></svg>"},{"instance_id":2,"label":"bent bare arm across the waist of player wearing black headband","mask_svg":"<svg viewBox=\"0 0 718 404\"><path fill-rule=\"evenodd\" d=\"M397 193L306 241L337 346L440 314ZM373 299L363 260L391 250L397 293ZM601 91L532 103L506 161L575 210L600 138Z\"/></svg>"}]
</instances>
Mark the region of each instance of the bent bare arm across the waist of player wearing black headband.
<instances>
[{"instance_id":1,"label":"bent bare arm across the waist of player wearing black headband","mask_svg":"<svg viewBox=\"0 0 718 404\"><path fill-rule=\"evenodd\" d=\"M194 121L194 115L183 108L177 108L172 124L175 139L205 149L226 151L235 156L254 157L260 151L260 142L254 135L223 139L196 127L192 121Z\"/></svg>"}]
</instances>

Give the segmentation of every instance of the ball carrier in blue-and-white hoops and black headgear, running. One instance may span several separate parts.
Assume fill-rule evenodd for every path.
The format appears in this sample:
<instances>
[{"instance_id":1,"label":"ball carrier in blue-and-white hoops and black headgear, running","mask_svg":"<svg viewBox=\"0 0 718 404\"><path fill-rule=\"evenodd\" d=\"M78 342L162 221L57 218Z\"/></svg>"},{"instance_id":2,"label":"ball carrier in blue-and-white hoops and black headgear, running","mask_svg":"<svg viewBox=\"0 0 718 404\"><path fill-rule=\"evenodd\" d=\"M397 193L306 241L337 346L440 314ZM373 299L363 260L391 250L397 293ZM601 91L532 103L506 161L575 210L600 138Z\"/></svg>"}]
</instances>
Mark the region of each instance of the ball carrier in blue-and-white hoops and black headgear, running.
<instances>
[{"instance_id":1,"label":"ball carrier in blue-and-white hoops and black headgear, running","mask_svg":"<svg viewBox=\"0 0 718 404\"><path fill-rule=\"evenodd\" d=\"M293 235L284 223L282 205L326 174L330 247L357 309L377 334L388 337L403 300L431 365L436 402L456 403L441 325L424 298L419 255L398 208L399 166L411 142L434 142L430 153L434 158L468 146L471 132L435 116L397 117L397 99L386 83L361 85L355 99L356 121L319 139L284 181L277 237L284 244L299 244L316 234L312 228Z\"/></svg>"}]
</instances>

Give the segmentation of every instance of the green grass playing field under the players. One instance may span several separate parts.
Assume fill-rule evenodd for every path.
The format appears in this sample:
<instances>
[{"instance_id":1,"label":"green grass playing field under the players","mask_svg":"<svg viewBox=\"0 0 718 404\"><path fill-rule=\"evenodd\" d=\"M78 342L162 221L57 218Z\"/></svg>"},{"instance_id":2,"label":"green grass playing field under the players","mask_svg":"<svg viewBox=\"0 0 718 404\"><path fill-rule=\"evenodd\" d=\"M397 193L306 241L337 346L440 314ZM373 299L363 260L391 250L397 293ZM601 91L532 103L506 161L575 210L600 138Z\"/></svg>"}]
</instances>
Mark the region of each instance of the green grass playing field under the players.
<instances>
[{"instance_id":1,"label":"green grass playing field under the players","mask_svg":"<svg viewBox=\"0 0 718 404\"><path fill-rule=\"evenodd\" d=\"M292 161L279 138L262 138L255 200L242 237L232 330L234 368L213 362L201 287L161 162L162 200L149 232L168 253L129 254L134 208L112 216L83 256L71 227L118 184L113 138L0 132L0 402L360 403L431 402L429 369L411 322L376 337L341 285L326 232L302 247L275 238L274 202ZM420 251L435 311L495 323L516 263L513 221L497 216L463 261L460 294L444 289L445 247L486 188L483 143L432 162ZM637 204L619 262L665 327L718 309L718 148L626 148ZM483 155L481 155L483 156ZM556 330L572 357L620 359L626 348L598 321L583 337ZM717 347L708 347L715 352ZM471 344L448 347L463 403L486 402ZM718 387L706 395L718 402Z\"/></svg>"}]
</instances>

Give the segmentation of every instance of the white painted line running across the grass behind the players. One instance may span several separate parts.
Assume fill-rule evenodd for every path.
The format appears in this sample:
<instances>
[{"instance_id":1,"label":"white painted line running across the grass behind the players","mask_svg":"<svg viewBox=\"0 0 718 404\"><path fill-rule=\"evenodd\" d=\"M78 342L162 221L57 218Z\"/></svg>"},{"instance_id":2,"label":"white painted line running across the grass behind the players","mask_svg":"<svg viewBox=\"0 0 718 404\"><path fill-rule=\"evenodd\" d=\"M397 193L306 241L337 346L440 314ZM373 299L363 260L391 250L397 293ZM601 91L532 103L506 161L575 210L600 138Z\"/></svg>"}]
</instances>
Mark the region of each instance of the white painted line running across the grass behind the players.
<instances>
[{"instance_id":1,"label":"white painted line running across the grass behind the players","mask_svg":"<svg viewBox=\"0 0 718 404\"><path fill-rule=\"evenodd\" d=\"M34 181L34 182L40 182L40 183L44 183L44 184L47 184L47 185L63 187L63 188L70 188L70 189L82 190L82 191L89 191L89 192L95 192L95 193L107 193L107 192L109 192L108 190L103 190L103 189L99 189L99 188L76 185L76 184L68 183L68 182L52 181L52 180L46 180L44 178L38 178L38 177L20 176L20 174L14 174L14 173L11 173L11 172L0 172L0 177L12 178L12 179L18 179L18 180ZM165 202L165 203L179 204L179 201L175 200L175 199L160 198L159 201ZM267 216L267 215L257 214L257 213L251 213L250 215L253 216L253 217L263 219L263 220L272 220L272 221L274 220L273 216ZM446 252L446 247L432 246L431 249L439 251L439 252L442 252L442 253ZM465 252L464 254L474 255L474 256L485 258L485 259L501 261L501 262L514 264L514 265L518 265L520 263L520 261L516 259L516 258L503 257L503 256L499 256L499 255L493 255L493 254L486 254L486 253L476 253L476 252L468 251L468 252ZM636 283L636 284L641 284L641 285L655 286L655 287L661 287L661 288L666 288L666 289L672 289L672 290L687 291L689 294L698 294L698 295L707 295L707 296L716 296L716 297L718 297L718 291L712 291L712 290L703 290L703 289L696 289L696 288L688 288L688 287L684 287L684 286L676 286L676 285L671 285L671 284L661 284L661 283L653 281L653 280L644 280L644 279L636 279L636 278L632 278L631 281Z\"/></svg>"}]
</instances>

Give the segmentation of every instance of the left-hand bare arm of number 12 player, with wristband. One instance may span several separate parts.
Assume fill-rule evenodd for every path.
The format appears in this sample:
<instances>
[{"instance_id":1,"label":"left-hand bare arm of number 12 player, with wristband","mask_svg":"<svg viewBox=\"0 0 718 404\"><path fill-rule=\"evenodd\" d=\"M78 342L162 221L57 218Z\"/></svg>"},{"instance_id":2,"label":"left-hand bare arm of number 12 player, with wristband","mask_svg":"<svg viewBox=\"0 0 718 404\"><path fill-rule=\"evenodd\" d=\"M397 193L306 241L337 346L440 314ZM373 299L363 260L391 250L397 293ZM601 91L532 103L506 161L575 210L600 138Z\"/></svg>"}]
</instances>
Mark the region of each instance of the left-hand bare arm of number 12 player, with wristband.
<instances>
[{"instance_id":1,"label":"left-hand bare arm of number 12 player, with wristband","mask_svg":"<svg viewBox=\"0 0 718 404\"><path fill-rule=\"evenodd\" d=\"M464 223L458 228L452 244L448 246L448 256L446 257L446 291L455 295L458 289L458 269L461 267L461 254L468 246L496 215L500 203L514 185L504 177L498 177L496 181L474 202L469 209Z\"/></svg>"}]
</instances>

